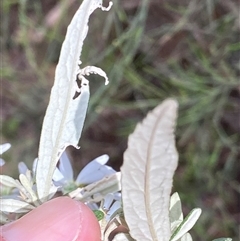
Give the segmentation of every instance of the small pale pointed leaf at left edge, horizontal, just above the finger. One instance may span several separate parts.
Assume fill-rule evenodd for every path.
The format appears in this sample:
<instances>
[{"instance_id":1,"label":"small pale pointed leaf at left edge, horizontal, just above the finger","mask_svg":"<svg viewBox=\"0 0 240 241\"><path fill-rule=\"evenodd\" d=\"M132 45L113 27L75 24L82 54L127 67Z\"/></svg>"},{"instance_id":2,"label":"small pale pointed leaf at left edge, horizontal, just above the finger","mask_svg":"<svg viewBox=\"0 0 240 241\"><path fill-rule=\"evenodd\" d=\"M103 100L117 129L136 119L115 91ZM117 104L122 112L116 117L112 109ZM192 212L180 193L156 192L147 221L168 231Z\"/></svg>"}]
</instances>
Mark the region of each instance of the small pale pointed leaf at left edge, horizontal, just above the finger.
<instances>
[{"instance_id":1,"label":"small pale pointed leaf at left edge, horizontal, just above the finger","mask_svg":"<svg viewBox=\"0 0 240 241\"><path fill-rule=\"evenodd\" d=\"M0 204L0 210L2 212L27 213L34 209L34 206L30 205L29 203L15 199L0 199Z\"/></svg>"}]
</instances>

